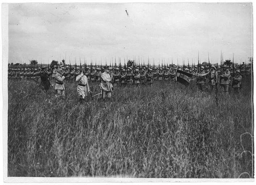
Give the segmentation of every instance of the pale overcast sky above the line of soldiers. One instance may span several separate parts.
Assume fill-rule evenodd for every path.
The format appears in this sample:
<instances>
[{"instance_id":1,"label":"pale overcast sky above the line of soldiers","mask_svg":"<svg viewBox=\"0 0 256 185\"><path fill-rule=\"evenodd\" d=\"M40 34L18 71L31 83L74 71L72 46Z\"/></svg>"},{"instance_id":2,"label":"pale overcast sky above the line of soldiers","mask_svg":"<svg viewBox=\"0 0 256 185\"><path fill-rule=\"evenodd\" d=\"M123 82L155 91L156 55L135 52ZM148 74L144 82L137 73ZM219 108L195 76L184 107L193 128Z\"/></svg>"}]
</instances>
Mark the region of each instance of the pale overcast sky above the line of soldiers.
<instances>
[{"instance_id":1,"label":"pale overcast sky above the line of soldiers","mask_svg":"<svg viewBox=\"0 0 256 185\"><path fill-rule=\"evenodd\" d=\"M251 31L249 3L9 4L9 63L244 61Z\"/></svg>"}]
</instances>

